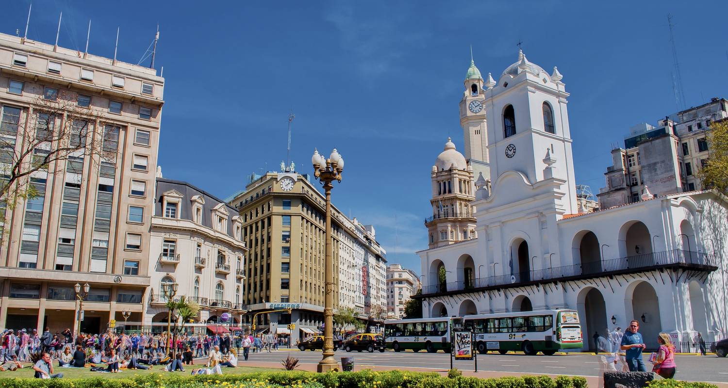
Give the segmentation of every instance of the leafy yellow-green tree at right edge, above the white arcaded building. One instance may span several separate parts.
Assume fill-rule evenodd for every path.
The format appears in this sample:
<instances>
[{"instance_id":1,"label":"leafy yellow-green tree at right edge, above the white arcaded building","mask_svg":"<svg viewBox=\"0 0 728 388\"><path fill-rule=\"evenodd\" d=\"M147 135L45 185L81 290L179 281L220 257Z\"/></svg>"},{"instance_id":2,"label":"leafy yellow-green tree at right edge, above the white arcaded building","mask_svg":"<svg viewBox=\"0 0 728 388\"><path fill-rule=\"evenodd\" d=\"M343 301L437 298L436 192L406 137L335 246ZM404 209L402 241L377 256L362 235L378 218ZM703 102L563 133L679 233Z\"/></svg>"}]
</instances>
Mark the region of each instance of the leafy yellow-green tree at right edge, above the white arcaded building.
<instances>
[{"instance_id":1,"label":"leafy yellow-green tree at right edge, above the white arcaded building","mask_svg":"<svg viewBox=\"0 0 728 388\"><path fill-rule=\"evenodd\" d=\"M728 194L728 121L713 122L708 132L708 159L697 172L705 189Z\"/></svg>"}]
</instances>

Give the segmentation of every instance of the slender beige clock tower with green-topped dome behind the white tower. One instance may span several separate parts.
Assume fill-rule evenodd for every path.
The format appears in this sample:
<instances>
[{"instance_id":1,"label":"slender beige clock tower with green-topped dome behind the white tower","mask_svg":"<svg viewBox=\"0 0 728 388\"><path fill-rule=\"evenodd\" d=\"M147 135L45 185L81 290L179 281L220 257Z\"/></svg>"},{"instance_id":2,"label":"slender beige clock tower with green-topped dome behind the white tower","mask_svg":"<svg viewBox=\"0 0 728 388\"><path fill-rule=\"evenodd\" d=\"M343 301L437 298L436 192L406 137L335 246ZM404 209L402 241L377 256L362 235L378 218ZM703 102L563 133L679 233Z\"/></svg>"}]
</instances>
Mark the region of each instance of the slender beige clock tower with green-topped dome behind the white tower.
<instances>
[{"instance_id":1,"label":"slender beige clock tower with green-topped dome behind the white tower","mask_svg":"<svg viewBox=\"0 0 728 388\"><path fill-rule=\"evenodd\" d=\"M490 74L488 74L490 76ZM460 100L460 126L465 143L465 159L472 166L475 177L480 173L490 178L488 165L488 127L486 108L483 106L483 77L470 58L470 68L465 75L465 90Z\"/></svg>"}]
</instances>

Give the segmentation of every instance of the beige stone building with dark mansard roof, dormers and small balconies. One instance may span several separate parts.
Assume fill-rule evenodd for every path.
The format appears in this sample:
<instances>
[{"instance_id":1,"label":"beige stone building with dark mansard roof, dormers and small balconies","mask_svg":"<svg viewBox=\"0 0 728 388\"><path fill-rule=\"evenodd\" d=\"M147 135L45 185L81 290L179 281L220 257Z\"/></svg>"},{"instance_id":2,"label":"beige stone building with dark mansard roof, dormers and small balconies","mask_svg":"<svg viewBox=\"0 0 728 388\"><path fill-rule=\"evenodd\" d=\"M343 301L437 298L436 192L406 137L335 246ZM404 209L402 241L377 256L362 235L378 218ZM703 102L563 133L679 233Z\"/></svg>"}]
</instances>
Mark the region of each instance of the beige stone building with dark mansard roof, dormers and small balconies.
<instances>
[{"instance_id":1,"label":"beige stone building with dark mansard roof, dormers and small balconies","mask_svg":"<svg viewBox=\"0 0 728 388\"><path fill-rule=\"evenodd\" d=\"M190 183L157 178L157 199L151 218L149 276L151 285L145 298L144 328L166 330L167 298L165 283L177 283L177 296L197 301L199 319L188 330L205 333L236 327L245 313L243 280L245 254L242 218L221 199ZM233 322L221 320L223 313ZM225 327L225 328L223 328Z\"/></svg>"}]
</instances>

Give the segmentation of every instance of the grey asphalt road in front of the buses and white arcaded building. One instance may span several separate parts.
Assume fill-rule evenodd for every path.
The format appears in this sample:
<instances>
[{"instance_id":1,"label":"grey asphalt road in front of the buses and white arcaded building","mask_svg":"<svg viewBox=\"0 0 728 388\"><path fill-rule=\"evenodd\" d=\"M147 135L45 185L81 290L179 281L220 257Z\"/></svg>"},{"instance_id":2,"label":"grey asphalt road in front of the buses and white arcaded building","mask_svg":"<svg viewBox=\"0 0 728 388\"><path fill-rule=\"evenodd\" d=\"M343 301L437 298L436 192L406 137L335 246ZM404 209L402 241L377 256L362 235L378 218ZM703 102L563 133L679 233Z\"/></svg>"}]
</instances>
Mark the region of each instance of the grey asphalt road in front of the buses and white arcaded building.
<instances>
[{"instance_id":1,"label":"grey asphalt road in front of the buses and white arcaded building","mask_svg":"<svg viewBox=\"0 0 728 388\"><path fill-rule=\"evenodd\" d=\"M301 352L298 349L280 349L273 352L251 353L250 361L261 361L268 363L280 363L280 360L288 354L297 357L300 363L317 364L321 360L321 351ZM354 357L355 364L363 367L379 366L396 369L416 368L422 371L443 371L450 368L449 355L438 353L413 353L413 352L336 352L336 360L340 362L341 357ZM678 365L676 379L687 381L708 381L728 383L728 358L719 358L714 355L676 355L675 361ZM646 362L645 364L651 365ZM245 365L242 361L238 365ZM454 361L454 367L462 371L472 371L474 368L471 361ZM599 376L600 363L598 356L572 353L571 355L553 356L526 356L510 352L506 355L488 354L478 355L478 371L494 372L519 372L534 374L563 374L578 376Z\"/></svg>"}]
</instances>

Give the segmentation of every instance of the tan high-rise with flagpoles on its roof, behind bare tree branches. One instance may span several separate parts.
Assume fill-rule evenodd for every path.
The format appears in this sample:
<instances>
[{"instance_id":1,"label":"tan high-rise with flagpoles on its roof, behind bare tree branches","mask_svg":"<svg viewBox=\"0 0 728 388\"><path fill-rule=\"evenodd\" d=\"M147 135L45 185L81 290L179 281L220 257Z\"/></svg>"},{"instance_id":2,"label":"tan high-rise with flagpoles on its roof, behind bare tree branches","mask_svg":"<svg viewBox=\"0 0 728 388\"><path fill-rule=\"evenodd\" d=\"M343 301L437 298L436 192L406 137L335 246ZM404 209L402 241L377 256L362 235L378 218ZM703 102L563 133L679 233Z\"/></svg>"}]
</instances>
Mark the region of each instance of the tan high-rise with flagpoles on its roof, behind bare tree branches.
<instances>
[{"instance_id":1,"label":"tan high-rise with flagpoles on its roof, behind bare tree branches","mask_svg":"<svg viewBox=\"0 0 728 388\"><path fill-rule=\"evenodd\" d=\"M54 133L71 111L93 117L75 140L99 145L21 178L38 195L5 212L0 328L76 328L76 283L90 285L81 331L123 322L122 311L141 321L163 88L153 68L0 34L4 170L28 149L28 133ZM48 106L66 111L47 117Z\"/></svg>"}]
</instances>

